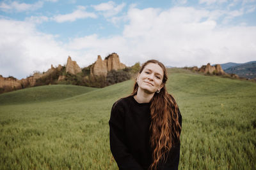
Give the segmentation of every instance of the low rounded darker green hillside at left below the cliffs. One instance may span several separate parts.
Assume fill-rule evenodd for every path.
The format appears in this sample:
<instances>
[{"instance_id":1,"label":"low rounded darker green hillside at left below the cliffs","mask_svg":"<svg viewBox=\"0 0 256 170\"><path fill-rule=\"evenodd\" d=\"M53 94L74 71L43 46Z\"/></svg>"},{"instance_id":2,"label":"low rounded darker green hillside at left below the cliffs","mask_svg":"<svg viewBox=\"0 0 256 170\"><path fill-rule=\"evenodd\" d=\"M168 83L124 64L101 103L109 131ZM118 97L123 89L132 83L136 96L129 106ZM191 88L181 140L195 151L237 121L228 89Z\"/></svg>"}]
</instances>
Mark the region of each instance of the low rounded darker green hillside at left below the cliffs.
<instances>
[{"instance_id":1,"label":"low rounded darker green hillside at left below the cliffs","mask_svg":"<svg viewBox=\"0 0 256 170\"><path fill-rule=\"evenodd\" d=\"M0 105L56 101L95 90L75 85L44 85L0 95Z\"/></svg>"}]
</instances>

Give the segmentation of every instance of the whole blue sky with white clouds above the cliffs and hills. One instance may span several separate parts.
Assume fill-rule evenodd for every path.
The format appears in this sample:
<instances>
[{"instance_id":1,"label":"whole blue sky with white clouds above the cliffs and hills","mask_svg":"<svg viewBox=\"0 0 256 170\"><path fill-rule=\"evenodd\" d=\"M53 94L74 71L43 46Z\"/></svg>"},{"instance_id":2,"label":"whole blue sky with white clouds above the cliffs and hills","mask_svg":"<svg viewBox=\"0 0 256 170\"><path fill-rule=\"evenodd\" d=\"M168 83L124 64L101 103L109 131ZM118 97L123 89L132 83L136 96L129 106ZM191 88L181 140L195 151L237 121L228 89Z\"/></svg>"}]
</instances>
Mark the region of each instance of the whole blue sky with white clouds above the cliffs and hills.
<instances>
[{"instance_id":1,"label":"whole blue sky with white clouds above the cliffs and hills","mask_svg":"<svg viewBox=\"0 0 256 170\"><path fill-rule=\"evenodd\" d=\"M26 78L110 53L126 66L256 60L256 0L0 0L0 74Z\"/></svg>"}]
</instances>

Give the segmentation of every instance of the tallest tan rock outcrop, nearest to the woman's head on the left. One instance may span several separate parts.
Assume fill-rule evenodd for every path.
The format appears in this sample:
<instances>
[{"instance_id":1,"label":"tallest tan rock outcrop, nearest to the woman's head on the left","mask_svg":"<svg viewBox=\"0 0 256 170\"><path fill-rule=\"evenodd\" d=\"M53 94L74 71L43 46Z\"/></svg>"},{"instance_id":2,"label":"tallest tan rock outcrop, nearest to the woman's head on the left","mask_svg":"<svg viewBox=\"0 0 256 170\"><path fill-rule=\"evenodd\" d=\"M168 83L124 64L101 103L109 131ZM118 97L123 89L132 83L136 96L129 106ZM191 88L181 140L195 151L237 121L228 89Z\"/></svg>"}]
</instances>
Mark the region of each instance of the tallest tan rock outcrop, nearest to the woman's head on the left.
<instances>
[{"instance_id":1,"label":"tallest tan rock outcrop, nearest to the woman's head on the left","mask_svg":"<svg viewBox=\"0 0 256 170\"><path fill-rule=\"evenodd\" d=\"M116 53L111 53L104 60L98 55L97 61L90 68L91 76L107 76L108 71L124 69L126 66L120 62Z\"/></svg>"}]
</instances>

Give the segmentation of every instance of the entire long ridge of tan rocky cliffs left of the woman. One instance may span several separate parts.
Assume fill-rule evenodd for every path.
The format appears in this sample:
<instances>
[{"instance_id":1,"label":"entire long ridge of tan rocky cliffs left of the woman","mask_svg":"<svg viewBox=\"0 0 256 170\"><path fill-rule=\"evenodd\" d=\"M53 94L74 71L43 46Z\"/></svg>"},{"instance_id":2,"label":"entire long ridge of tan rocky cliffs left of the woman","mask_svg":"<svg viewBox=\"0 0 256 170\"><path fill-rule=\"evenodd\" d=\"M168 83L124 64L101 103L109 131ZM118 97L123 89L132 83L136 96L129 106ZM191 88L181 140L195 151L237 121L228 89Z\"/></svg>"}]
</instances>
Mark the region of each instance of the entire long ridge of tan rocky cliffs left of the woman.
<instances>
[{"instance_id":1,"label":"entire long ridge of tan rocky cliffs left of the woman","mask_svg":"<svg viewBox=\"0 0 256 170\"><path fill-rule=\"evenodd\" d=\"M51 65L51 68L48 69L46 72L35 72L32 76L22 78L21 80L18 80L11 76L8 78L4 78L0 75L0 94L3 92L10 92L12 90L24 89L26 87L33 87L36 85L49 85L52 83L56 84L60 81L67 81L66 83L72 82L72 84L76 84L79 80L79 83L90 86L93 84L93 81L98 81L96 76L104 76L106 78L108 71L124 69L125 67L126 66L120 62L119 56L116 53L111 53L111 55L108 55L108 57L106 57L104 60L102 60L99 55L97 61L92 64L92 66L84 67L82 72L82 69L77 65L77 62L73 61L71 57L68 56L66 69L64 69L64 67L60 64L58 67L53 67ZM83 74L77 74L81 72ZM88 79L89 75L92 76L92 80L90 80L90 82L87 82L84 80L84 78L87 77ZM105 80L103 78L99 79L99 81ZM93 87L98 86L94 85Z\"/></svg>"}]
</instances>

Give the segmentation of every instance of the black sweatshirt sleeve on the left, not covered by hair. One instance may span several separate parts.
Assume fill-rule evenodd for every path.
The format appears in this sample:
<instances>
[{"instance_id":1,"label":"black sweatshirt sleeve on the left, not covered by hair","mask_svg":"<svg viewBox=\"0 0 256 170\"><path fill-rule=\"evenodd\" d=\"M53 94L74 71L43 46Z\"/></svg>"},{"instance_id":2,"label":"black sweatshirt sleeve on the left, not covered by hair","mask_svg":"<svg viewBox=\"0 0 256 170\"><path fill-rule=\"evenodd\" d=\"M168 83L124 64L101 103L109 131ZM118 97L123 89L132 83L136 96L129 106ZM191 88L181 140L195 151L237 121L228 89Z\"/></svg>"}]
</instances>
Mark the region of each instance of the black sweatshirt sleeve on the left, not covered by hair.
<instances>
[{"instance_id":1,"label":"black sweatshirt sleeve on the left, not covered by hair","mask_svg":"<svg viewBox=\"0 0 256 170\"><path fill-rule=\"evenodd\" d=\"M109 120L109 143L113 157L119 169L143 170L134 160L125 145L124 109L118 103L113 104Z\"/></svg>"}]
</instances>

